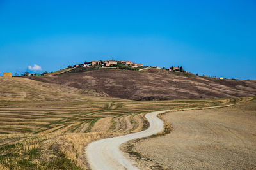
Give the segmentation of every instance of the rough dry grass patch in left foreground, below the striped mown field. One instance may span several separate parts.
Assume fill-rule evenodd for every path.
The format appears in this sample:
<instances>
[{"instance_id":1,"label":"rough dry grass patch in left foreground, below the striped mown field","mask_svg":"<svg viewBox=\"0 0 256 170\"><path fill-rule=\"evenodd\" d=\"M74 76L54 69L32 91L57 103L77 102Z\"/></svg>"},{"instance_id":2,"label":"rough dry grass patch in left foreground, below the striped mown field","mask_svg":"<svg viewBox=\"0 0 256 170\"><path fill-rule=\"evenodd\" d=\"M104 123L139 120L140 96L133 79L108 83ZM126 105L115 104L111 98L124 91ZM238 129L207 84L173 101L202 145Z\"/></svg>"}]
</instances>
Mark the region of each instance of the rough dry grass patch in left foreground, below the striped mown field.
<instances>
[{"instance_id":1,"label":"rough dry grass patch in left foreground, below the striped mown field","mask_svg":"<svg viewBox=\"0 0 256 170\"><path fill-rule=\"evenodd\" d=\"M118 133L1 134L1 169L86 169L84 146Z\"/></svg>"}]
</instances>

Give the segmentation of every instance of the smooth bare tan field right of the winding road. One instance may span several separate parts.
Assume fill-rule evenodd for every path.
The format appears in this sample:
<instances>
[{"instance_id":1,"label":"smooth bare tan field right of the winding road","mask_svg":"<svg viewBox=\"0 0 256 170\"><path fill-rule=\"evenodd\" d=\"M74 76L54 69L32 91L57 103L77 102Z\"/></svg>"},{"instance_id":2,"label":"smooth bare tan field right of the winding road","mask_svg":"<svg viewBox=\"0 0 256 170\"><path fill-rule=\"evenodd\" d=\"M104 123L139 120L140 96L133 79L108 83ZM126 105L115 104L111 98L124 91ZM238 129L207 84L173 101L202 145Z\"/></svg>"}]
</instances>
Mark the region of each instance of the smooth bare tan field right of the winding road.
<instances>
[{"instance_id":1,"label":"smooth bare tan field right of the winding road","mask_svg":"<svg viewBox=\"0 0 256 170\"><path fill-rule=\"evenodd\" d=\"M164 115L171 134L140 141L134 151L164 169L256 169L256 102ZM139 167L146 169L147 162Z\"/></svg>"}]
</instances>

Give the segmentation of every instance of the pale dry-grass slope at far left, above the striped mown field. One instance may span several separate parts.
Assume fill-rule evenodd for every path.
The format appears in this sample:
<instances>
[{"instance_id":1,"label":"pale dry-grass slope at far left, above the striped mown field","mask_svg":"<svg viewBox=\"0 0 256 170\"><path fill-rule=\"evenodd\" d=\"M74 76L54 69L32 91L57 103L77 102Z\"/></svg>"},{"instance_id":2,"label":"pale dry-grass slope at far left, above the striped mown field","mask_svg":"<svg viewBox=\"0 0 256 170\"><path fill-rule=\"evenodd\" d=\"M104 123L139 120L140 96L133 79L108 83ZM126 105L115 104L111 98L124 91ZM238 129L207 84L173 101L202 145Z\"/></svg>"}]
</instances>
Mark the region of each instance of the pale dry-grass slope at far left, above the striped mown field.
<instances>
[{"instance_id":1,"label":"pale dry-grass slope at far left, above the striped mown field","mask_svg":"<svg viewBox=\"0 0 256 170\"><path fill-rule=\"evenodd\" d=\"M0 101L106 101L95 90L44 83L28 78L0 77Z\"/></svg>"}]
</instances>

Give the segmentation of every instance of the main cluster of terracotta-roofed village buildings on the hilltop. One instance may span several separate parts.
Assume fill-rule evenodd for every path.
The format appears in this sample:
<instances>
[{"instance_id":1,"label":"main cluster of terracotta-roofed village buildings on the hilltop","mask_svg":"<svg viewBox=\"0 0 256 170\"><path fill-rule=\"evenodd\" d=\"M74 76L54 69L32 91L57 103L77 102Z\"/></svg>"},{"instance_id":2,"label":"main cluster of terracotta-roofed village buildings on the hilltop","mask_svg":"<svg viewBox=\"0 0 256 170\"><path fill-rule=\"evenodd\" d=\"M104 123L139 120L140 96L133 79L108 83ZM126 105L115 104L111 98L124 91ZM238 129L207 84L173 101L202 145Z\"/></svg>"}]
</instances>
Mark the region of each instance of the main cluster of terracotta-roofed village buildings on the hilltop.
<instances>
[{"instance_id":1,"label":"main cluster of terracotta-roofed village buildings on the hilltop","mask_svg":"<svg viewBox=\"0 0 256 170\"><path fill-rule=\"evenodd\" d=\"M130 66L130 67L142 67L143 64L136 64L135 62L131 61L124 61L124 60L106 60L106 61L90 61L90 62L84 62L84 64L76 64L73 67L92 67L92 66L101 66L101 67L112 67L117 65L118 63L123 64L124 66Z\"/></svg>"}]
</instances>

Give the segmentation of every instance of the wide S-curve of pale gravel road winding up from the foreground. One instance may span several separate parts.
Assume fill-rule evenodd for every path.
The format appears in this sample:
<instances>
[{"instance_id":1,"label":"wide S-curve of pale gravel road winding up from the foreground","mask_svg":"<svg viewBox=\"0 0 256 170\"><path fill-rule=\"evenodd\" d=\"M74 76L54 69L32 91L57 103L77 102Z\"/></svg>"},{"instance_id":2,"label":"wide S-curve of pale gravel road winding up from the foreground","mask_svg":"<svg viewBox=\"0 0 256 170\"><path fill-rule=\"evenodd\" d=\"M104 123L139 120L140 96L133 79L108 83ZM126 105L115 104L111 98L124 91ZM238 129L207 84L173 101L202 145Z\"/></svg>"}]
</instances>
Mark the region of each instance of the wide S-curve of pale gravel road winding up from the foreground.
<instances>
[{"instance_id":1,"label":"wide S-curve of pale gravel road winding up from the foreground","mask_svg":"<svg viewBox=\"0 0 256 170\"><path fill-rule=\"evenodd\" d=\"M131 141L136 138L143 138L156 134L164 130L164 123L157 118L159 113L165 113L169 110L154 111L147 113L150 126L145 131L127 134L113 138L101 139L94 141L86 147L86 157L91 169L138 169L133 166L129 160L125 159L124 153L119 149L122 143Z\"/></svg>"}]
</instances>

